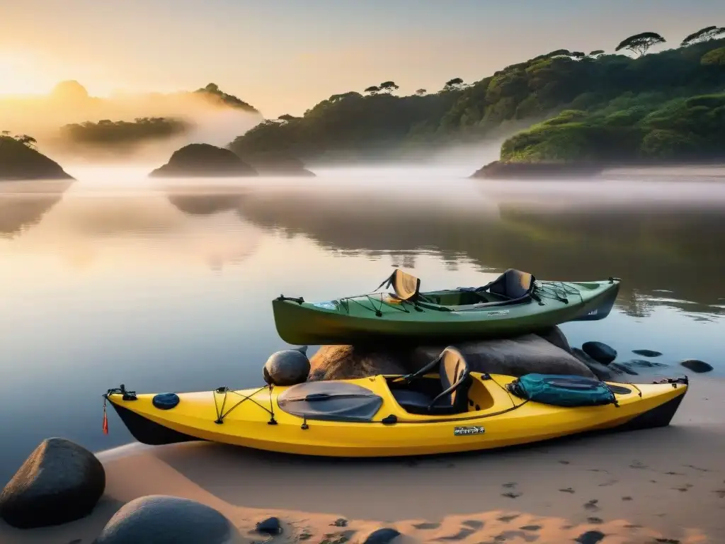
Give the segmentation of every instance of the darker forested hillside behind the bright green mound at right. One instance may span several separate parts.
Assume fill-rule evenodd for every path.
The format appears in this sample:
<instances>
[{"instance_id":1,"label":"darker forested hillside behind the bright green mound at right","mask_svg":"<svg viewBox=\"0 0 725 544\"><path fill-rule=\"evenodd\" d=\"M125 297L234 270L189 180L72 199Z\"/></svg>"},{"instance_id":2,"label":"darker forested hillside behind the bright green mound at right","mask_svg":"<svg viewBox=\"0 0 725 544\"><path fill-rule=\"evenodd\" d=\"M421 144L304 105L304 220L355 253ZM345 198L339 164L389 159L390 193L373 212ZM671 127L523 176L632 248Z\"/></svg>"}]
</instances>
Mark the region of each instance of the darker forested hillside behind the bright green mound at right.
<instances>
[{"instance_id":1,"label":"darker forested hillside behind the bright green mound at right","mask_svg":"<svg viewBox=\"0 0 725 544\"><path fill-rule=\"evenodd\" d=\"M430 93L421 88L410 96L396 96L392 91L398 90L397 85L381 83L362 93L333 95L299 118L260 123L231 148L289 152L303 160L394 154L481 139L500 128L511 131L513 123L521 127L556 117L562 110L570 110L569 115L572 110L583 112L582 118L606 110L608 126L631 125L639 122L642 108L725 88L725 70L720 68L725 62L725 38L713 32L698 31L685 46L656 53L650 48L664 43L659 34L630 36L618 49L634 56L608 54L605 49L588 54L556 49L468 85L462 78L452 78ZM562 118L555 123L565 124ZM655 141L651 136L647 149ZM638 140L636 147L640 144Z\"/></svg>"}]
</instances>

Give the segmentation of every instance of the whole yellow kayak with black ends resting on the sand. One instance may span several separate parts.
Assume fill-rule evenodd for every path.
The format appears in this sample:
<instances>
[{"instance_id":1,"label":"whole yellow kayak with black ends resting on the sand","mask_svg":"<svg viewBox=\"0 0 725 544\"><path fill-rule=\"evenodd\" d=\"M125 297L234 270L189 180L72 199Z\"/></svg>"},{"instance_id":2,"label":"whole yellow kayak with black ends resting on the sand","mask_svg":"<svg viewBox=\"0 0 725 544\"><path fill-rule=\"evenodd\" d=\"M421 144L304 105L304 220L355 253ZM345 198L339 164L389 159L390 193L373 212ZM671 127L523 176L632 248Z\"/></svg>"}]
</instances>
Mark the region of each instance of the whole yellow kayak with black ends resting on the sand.
<instances>
[{"instance_id":1,"label":"whole yellow kayak with black ends resting on the sand","mask_svg":"<svg viewBox=\"0 0 725 544\"><path fill-rule=\"evenodd\" d=\"M582 386L589 380L611 396L610 402L594 405L556 405L537 401L534 393L522 395L517 389L522 379L470 372L463 356L449 347L407 376L247 390L220 387L178 395L137 395L122 385L104 397L133 437L146 444L209 440L284 453L377 457L485 450L581 432L666 426L688 389L687 377L615 384L548 376L549 382L541 382L547 387L571 386L568 390L576 392L589 387ZM555 383L567 379L575 380Z\"/></svg>"}]
</instances>

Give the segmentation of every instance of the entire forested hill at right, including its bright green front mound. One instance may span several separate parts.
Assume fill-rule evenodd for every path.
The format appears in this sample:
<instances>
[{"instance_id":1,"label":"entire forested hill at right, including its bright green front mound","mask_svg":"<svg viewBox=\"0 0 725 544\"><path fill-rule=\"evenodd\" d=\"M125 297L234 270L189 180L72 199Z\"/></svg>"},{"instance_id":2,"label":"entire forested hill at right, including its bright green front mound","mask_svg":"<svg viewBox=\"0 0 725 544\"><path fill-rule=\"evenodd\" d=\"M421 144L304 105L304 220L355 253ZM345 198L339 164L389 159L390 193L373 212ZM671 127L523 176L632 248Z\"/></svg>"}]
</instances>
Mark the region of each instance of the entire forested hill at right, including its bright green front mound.
<instances>
[{"instance_id":1,"label":"entire forested hill at right, including its bright green front mound","mask_svg":"<svg viewBox=\"0 0 725 544\"><path fill-rule=\"evenodd\" d=\"M396 96L397 84L386 81L330 96L302 117L265 120L229 147L302 160L379 157L537 123L505 141L502 160L723 157L724 36L725 28L711 26L648 53L666 38L645 32L611 54L560 49L472 84L454 78L411 96Z\"/></svg>"}]
</instances>

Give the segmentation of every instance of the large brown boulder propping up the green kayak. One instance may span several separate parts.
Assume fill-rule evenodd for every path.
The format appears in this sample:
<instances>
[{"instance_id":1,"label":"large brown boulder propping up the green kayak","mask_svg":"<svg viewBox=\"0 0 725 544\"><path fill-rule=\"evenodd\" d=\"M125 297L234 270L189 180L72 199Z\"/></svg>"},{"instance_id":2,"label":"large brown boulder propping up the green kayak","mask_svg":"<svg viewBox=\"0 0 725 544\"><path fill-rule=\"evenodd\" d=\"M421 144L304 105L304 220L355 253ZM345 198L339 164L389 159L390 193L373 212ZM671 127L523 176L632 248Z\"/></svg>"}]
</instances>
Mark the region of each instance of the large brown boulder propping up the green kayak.
<instances>
[{"instance_id":1,"label":"large brown boulder propping up the green kayak","mask_svg":"<svg viewBox=\"0 0 725 544\"><path fill-rule=\"evenodd\" d=\"M323 346L310 359L310 380L352 379L376 374L407 374L418 371L445 348ZM574 374L595 376L587 365L537 334L513 339L490 339L455 344L471 371L523 376Z\"/></svg>"}]
</instances>

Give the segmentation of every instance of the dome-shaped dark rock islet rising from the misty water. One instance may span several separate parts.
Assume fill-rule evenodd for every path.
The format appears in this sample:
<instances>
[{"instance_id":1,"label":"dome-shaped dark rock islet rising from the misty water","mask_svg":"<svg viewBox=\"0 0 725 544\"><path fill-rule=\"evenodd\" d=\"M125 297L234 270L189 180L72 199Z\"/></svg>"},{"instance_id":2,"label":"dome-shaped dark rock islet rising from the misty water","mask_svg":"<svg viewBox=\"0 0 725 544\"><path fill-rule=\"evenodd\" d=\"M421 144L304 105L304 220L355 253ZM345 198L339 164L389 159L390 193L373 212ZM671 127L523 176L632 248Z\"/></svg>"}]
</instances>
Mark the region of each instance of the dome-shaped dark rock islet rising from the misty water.
<instances>
[{"instance_id":1,"label":"dome-shaped dark rock islet rising from the misty water","mask_svg":"<svg viewBox=\"0 0 725 544\"><path fill-rule=\"evenodd\" d=\"M153 170L149 176L213 178L258 176L258 173L229 149L210 144L188 144L173 152L169 162Z\"/></svg>"}]
</instances>

